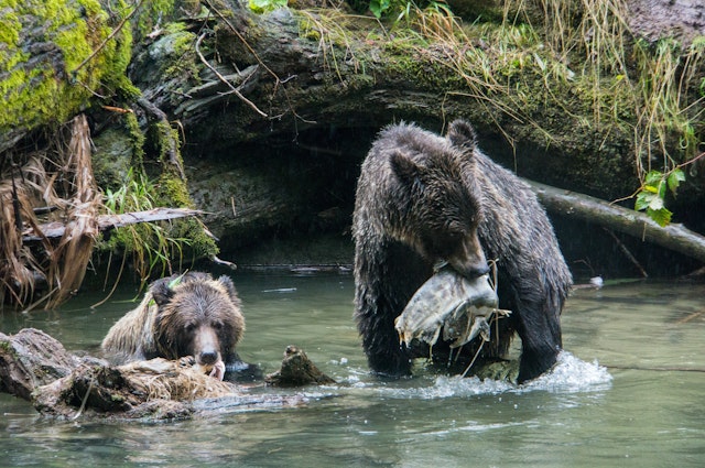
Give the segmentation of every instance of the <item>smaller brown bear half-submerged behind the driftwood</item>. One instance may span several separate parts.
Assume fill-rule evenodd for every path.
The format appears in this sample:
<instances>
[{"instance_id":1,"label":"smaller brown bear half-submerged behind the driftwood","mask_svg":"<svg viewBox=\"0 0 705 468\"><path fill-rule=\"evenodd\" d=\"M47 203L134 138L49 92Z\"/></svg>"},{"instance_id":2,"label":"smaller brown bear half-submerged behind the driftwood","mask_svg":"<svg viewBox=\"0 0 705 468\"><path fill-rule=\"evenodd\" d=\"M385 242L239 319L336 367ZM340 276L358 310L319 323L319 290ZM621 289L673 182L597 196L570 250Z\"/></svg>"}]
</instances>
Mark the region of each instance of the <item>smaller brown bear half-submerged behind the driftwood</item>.
<instances>
[{"instance_id":1,"label":"smaller brown bear half-submerged behind the driftwood","mask_svg":"<svg viewBox=\"0 0 705 468\"><path fill-rule=\"evenodd\" d=\"M187 272L155 281L140 305L127 313L102 340L112 364L152 358L193 357L223 379L240 371L236 346L245 331L240 298L228 276Z\"/></svg>"}]
</instances>

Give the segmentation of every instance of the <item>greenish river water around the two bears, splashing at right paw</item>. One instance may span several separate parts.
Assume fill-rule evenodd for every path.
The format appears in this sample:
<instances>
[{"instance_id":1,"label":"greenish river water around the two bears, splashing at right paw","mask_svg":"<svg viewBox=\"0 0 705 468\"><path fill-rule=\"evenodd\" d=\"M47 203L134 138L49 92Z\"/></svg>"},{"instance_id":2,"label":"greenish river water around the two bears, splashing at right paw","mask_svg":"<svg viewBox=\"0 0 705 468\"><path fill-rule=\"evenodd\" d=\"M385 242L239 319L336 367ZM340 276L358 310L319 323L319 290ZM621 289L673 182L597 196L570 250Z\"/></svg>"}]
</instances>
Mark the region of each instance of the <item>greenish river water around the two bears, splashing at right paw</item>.
<instances>
[{"instance_id":1,"label":"greenish river water around the two bears, splashing at right paw","mask_svg":"<svg viewBox=\"0 0 705 468\"><path fill-rule=\"evenodd\" d=\"M554 371L522 387L437 376L370 376L352 323L349 274L234 276L247 333L241 357L265 372L290 344L337 384L294 391L295 407L234 410L167 423L57 422L0 394L0 466L41 467L702 467L704 284L607 283L563 313ZM134 306L83 294L53 313L4 312L0 330L43 329L97 352ZM254 389L253 392L283 393Z\"/></svg>"}]
</instances>

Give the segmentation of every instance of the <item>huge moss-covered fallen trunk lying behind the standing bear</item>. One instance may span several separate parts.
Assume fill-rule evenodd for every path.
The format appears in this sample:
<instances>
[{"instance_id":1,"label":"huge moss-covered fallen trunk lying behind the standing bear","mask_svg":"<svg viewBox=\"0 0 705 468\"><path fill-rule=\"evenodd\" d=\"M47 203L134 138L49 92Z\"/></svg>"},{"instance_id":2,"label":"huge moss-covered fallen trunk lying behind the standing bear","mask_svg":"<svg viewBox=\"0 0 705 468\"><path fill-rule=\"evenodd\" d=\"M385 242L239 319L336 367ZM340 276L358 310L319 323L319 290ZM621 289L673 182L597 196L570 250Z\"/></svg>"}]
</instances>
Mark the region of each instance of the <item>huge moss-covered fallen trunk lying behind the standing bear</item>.
<instances>
[{"instance_id":1,"label":"huge moss-covered fallen trunk lying behind the standing bear","mask_svg":"<svg viewBox=\"0 0 705 468\"><path fill-rule=\"evenodd\" d=\"M467 7L478 3L485 2ZM436 25L437 37L426 31L431 36L422 39L333 9L256 14L243 2L202 4L208 29L192 19L191 28L162 31L139 45L130 73L152 102L183 124L185 157L239 160L237 145L278 137L296 142L315 129L379 129L406 120L442 131L444 122L465 118L495 159L527 177L606 198L634 189L634 97L605 90L615 95L612 104L621 102L614 113L626 122L609 120L593 110L600 99L590 91L597 84L576 74L546 75L564 65L542 56L539 42L503 54L467 24L455 30L466 34L458 42L455 26L445 23ZM698 85L684 84L683 92L696 94ZM664 144L677 153L677 137L671 137Z\"/></svg>"}]
</instances>

